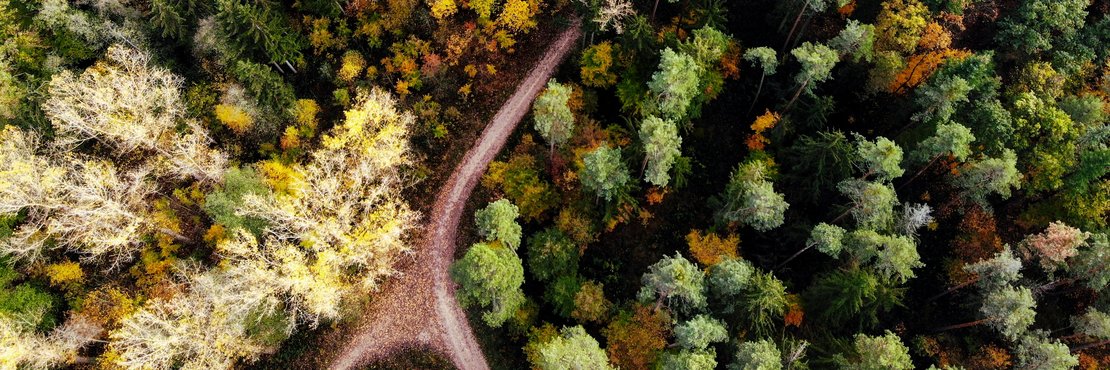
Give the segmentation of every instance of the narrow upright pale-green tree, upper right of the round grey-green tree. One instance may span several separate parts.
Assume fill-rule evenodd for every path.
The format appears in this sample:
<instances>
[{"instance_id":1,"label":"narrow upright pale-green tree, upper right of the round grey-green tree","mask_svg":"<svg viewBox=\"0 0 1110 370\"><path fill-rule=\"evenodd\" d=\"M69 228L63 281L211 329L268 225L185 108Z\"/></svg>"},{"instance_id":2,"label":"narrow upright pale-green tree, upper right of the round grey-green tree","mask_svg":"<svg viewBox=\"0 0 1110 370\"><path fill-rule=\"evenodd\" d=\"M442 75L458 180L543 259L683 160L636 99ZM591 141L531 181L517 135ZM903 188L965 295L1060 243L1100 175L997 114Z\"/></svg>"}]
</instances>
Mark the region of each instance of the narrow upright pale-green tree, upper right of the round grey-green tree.
<instances>
[{"instance_id":1,"label":"narrow upright pale-green tree, upper right of the round grey-green tree","mask_svg":"<svg viewBox=\"0 0 1110 370\"><path fill-rule=\"evenodd\" d=\"M644 164L640 167L644 180L666 187L670 181L670 167L682 156L683 138L678 137L678 126L648 116L639 127L639 141L644 144Z\"/></svg>"}]
</instances>

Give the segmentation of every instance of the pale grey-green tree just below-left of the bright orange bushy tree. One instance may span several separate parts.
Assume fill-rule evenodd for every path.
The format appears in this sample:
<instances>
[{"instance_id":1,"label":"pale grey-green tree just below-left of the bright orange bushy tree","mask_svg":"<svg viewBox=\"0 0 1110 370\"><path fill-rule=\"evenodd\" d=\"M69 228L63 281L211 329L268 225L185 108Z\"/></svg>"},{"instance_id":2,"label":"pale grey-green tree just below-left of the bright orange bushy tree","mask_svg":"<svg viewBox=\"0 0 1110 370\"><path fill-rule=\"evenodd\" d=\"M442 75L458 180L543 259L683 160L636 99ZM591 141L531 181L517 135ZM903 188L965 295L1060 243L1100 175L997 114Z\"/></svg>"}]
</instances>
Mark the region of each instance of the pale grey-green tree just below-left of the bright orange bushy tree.
<instances>
[{"instance_id":1,"label":"pale grey-green tree just below-left of the bright orange bushy tree","mask_svg":"<svg viewBox=\"0 0 1110 370\"><path fill-rule=\"evenodd\" d=\"M640 301L655 301L655 308L666 303L679 312L697 312L706 307L705 274L682 254L664 257L640 278Z\"/></svg>"}]
</instances>

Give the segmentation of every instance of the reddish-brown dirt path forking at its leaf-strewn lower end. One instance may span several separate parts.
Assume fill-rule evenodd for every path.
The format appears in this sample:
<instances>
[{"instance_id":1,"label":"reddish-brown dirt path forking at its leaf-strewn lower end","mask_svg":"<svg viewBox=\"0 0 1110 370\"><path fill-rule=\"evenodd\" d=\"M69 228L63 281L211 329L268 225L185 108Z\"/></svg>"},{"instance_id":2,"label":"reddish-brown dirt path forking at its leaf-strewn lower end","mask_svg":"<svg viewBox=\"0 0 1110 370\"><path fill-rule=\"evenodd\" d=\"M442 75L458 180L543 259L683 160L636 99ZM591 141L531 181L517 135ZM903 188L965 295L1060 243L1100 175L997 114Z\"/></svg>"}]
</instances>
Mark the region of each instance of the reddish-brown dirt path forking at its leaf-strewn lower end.
<instances>
[{"instance_id":1,"label":"reddish-brown dirt path forking at its leaf-strewn lower end","mask_svg":"<svg viewBox=\"0 0 1110 370\"><path fill-rule=\"evenodd\" d=\"M456 231L466 200L505 140L532 108L532 100L578 39L575 21L556 39L516 92L501 107L436 196L422 243L398 266L364 313L363 327L336 354L330 369L352 369L401 349L427 348L445 354L458 369L487 370L466 312L455 300L447 270L454 260Z\"/></svg>"}]
</instances>

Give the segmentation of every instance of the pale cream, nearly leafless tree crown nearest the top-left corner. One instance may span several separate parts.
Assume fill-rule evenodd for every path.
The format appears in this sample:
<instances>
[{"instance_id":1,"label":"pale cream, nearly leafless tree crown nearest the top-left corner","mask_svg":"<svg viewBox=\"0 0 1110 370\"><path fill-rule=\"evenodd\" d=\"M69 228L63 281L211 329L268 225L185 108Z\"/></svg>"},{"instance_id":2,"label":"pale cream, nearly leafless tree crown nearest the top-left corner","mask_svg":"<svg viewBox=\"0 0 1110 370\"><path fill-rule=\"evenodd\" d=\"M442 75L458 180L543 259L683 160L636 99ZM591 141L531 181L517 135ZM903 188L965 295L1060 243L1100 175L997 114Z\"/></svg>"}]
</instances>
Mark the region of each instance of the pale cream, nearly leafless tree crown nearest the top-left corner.
<instances>
[{"instance_id":1,"label":"pale cream, nearly leafless tree crown nearest the top-left corner","mask_svg":"<svg viewBox=\"0 0 1110 370\"><path fill-rule=\"evenodd\" d=\"M208 133L195 122L186 124L191 133L175 132L188 121L182 79L135 49L112 46L105 57L81 76L62 71L50 80L42 111L54 146L72 149L95 139L120 154L157 153L169 174L219 182L226 158L206 147Z\"/></svg>"}]
</instances>

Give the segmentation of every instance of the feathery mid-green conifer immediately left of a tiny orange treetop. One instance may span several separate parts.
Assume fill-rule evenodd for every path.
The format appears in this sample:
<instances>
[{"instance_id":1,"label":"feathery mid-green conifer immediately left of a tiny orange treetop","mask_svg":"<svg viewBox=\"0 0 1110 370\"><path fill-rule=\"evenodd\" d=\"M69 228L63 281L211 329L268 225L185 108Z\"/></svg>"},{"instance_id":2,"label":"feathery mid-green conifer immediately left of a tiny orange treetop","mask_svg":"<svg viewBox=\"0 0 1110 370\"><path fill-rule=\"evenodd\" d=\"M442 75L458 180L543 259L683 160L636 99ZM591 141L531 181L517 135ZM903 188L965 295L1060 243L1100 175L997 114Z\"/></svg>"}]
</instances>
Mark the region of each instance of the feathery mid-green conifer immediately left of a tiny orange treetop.
<instances>
[{"instance_id":1,"label":"feathery mid-green conifer immediately left of a tiny orange treetop","mask_svg":"<svg viewBox=\"0 0 1110 370\"><path fill-rule=\"evenodd\" d=\"M756 271L740 292L738 310L747 318L757 336L774 331L776 321L786 313L786 286L770 272Z\"/></svg>"}]
</instances>

